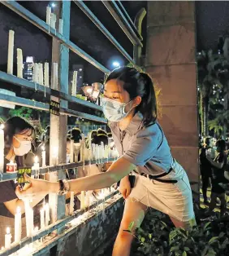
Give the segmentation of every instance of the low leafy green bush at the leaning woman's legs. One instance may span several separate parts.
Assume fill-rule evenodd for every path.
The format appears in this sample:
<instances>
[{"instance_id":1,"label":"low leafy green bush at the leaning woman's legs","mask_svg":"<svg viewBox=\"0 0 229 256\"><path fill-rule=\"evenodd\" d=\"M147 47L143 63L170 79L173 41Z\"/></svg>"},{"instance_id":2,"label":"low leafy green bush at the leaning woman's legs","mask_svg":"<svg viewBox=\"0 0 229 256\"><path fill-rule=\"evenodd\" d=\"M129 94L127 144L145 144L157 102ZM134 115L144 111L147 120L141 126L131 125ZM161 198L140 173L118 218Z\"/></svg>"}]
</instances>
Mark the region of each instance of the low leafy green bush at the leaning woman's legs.
<instances>
[{"instance_id":1,"label":"low leafy green bush at the leaning woman's legs","mask_svg":"<svg viewBox=\"0 0 229 256\"><path fill-rule=\"evenodd\" d=\"M170 227L162 218L163 214L149 211L143 227L137 228L136 232L132 231L136 238L136 251L132 255L229 255L228 227L223 227L225 232L222 232L222 226L218 227L219 224L210 222L184 230Z\"/></svg>"}]
</instances>

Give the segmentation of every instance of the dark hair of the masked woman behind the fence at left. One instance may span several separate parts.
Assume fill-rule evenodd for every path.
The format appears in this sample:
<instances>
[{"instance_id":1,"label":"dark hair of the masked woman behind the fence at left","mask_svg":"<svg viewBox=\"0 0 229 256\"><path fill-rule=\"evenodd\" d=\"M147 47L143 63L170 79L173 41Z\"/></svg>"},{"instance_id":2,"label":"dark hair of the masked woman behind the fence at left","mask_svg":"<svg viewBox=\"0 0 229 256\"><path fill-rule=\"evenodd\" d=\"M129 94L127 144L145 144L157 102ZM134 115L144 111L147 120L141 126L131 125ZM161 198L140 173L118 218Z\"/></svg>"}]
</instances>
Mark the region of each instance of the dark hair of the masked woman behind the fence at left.
<instances>
[{"instance_id":1,"label":"dark hair of the masked woman behind the fence at left","mask_svg":"<svg viewBox=\"0 0 229 256\"><path fill-rule=\"evenodd\" d=\"M35 129L23 117L11 117L4 124L5 154L11 149L14 135L23 135L27 130L32 130L32 137L35 139Z\"/></svg>"}]
</instances>

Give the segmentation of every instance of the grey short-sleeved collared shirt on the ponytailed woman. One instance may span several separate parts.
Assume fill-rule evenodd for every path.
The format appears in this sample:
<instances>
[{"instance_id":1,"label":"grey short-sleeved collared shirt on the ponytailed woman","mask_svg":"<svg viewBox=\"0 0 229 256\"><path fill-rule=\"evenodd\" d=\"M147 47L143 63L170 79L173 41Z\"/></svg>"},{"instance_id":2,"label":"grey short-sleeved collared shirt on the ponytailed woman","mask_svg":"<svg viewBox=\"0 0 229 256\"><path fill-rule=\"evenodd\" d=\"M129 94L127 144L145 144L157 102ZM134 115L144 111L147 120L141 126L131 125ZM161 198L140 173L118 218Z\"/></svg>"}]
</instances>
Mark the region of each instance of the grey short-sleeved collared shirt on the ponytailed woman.
<instances>
[{"instance_id":1,"label":"grey short-sleeved collared shirt on the ponytailed woman","mask_svg":"<svg viewBox=\"0 0 229 256\"><path fill-rule=\"evenodd\" d=\"M119 130L119 122L110 122L119 156L134 164L140 174L158 175L168 172L173 157L162 127L157 121L145 127L142 120L141 113L136 113L123 131Z\"/></svg>"}]
</instances>

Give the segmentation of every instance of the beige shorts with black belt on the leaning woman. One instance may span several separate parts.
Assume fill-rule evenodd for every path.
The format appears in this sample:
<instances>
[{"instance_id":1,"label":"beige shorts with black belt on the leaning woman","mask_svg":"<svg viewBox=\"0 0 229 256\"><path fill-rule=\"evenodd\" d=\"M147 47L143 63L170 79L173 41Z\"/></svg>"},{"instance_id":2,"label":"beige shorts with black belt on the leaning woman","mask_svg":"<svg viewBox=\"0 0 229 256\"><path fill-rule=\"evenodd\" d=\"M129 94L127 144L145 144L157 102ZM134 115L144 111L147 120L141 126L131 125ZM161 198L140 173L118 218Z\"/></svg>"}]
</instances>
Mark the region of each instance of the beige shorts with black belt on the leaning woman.
<instances>
[{"instance_id":1,"label":"beige shorts with black belt on the leaning woman","mask_svg":"<svg viewBox=\"0 0 229 256\"><path fill-rule=\"evenodd\" d=\"M177 183L162 183L136 174L130 197L181 221L195 223L192 190L184 168L174 161L173 170L160 179L176 179Z\"/></svg>"}]
</instances>

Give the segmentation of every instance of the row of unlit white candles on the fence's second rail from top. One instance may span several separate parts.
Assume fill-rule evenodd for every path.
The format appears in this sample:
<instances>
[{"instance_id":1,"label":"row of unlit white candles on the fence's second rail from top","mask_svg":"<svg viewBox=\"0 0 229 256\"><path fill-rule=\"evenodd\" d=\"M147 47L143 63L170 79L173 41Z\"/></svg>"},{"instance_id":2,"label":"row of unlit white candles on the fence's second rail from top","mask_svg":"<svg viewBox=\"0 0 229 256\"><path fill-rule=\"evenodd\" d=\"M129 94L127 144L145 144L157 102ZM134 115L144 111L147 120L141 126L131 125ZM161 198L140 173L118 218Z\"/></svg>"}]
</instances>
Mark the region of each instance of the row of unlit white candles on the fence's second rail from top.
<instances>
[{"instance_id":1,"label":"row of unlit white candles on the fence's second rail from top","mask_svg":"<svg viewBox=\"0 0 229 256\"><path fill-rule=\"evenodd\" d=\"M50 8L50 7L49 7ZM14 63L14 43L15 43L15 31L9 31L9 42L8 42L8 60L7 60L7 73L13 74L13 63ZM23 78L23 51L17 48L17 77ZM77 88L77 71L73 72L71 95L76 96ZM58 90L58 63L53 64L53 84L52 88ZM41 86L50 86L50 64L45 62L33 64L33 82L40 84Z\"/></svg>"}]
</instances>

